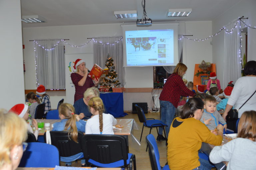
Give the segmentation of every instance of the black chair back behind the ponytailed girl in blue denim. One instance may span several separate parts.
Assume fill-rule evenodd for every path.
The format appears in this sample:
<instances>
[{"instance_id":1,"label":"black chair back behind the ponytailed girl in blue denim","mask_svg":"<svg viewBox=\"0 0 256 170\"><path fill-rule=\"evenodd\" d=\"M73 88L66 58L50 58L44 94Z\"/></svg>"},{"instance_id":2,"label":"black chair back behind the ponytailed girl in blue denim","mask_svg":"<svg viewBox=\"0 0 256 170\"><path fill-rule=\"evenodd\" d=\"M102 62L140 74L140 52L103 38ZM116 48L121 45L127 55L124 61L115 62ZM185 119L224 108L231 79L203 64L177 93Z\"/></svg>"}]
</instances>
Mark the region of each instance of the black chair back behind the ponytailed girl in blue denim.
<instances>
[{"instance_id":1,"label":"black chair back behind the ponytailed girl in blue denim","mask_svg":"<svg viewBox=\"0 0 256 170\"><path fill-rule=\"evenodd\" d=\"M50 135L51 143L58 148L60 156L68 157L83 152L81 146L83 132L78 131L78 143L72 140L67 131L50 131ZM44 133L44 140L46 141L46 133Z\"/></svg>"}]
</instances>

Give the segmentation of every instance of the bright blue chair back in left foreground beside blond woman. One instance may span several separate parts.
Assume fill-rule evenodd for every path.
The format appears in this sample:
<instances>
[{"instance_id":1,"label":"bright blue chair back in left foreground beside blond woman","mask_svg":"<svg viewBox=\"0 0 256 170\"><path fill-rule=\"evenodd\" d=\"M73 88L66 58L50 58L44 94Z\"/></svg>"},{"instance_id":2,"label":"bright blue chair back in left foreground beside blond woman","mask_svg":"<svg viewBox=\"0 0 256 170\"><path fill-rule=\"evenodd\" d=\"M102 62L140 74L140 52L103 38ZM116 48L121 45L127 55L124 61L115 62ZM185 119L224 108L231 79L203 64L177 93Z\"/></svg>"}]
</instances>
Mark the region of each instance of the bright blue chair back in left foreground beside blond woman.
<instances>
[{"instance_id":1,"label":"bright blue chair back in left foreground beside blond woman","mask_svg":"<svg viewBox=\"0 0 256 170\"><path fill-rule=\"evenodd\" d=\"M47 143L28 143L26 151L23 153L19 167L55 167L59 166L58 149Z\"/></svg>"}]
</instances>

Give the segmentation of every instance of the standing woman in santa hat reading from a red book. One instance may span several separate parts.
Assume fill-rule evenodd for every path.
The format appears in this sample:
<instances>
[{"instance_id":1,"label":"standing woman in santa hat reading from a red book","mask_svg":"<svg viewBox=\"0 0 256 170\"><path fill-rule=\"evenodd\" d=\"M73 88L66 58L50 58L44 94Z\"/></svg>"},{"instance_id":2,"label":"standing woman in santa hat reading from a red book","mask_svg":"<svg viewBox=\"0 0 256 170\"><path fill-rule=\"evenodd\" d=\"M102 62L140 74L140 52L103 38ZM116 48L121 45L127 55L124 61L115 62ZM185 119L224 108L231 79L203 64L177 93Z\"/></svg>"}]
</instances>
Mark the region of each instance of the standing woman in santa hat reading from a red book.
<instances>
[{"instance_id":1,"label":"standing woman in santa hat reading from a red book","mask_svg":"<svg viewBox=\"0 0 256 170\"><path fill-rule=\"evenodd\" d=\"M73 84L75 85L75 97L74 102L80 98L83 98L84 92L89 87L97 87L99 85L99 79L91 79L88 77L88 69L85 67L85 61L77 59L73 66L77 72L70 75Z\"/></svg>"}]
</instances>

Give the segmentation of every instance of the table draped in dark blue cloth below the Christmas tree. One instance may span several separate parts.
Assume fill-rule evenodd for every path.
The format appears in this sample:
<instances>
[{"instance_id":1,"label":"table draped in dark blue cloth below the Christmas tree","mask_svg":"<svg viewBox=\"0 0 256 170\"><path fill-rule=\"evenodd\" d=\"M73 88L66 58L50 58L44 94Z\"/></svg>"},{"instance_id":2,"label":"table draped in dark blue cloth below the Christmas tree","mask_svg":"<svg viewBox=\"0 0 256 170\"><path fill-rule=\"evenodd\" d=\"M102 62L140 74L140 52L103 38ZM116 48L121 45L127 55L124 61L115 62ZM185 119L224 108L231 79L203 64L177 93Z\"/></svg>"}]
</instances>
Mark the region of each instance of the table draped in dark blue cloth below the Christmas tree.
<instances>
[{"instance_id":1,"label":"table draped in dark blue cloth below the Christmas tree","mask_svg":"<svg viewBox=\"0 0 256 170\"><path fill-rule=\"evenodd\" d=\"M124 117L123 93L100 93L106 113L112 114L114 117Z\"/></svg>"}]
</instances>

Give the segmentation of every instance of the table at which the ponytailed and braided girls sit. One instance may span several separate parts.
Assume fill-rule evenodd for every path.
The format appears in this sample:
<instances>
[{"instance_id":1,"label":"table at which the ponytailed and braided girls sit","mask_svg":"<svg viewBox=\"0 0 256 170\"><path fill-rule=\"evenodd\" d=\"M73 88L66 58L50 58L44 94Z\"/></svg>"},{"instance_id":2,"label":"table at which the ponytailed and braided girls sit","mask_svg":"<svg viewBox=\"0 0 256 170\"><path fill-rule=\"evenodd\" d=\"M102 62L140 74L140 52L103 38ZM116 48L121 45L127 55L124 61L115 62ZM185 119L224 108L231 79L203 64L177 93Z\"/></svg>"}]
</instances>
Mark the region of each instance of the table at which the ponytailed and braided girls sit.
<instances>
[{"instance_id":1,"label":"table at which the ponytailed and braided girls sit","mask_svg":"<svg viewBox=\"0 0 256 170\"><path fill-rule=\"evenodd\" d=\"M50 130L52 130L52 124L56 122L60 122L61 119L36 119L37 122L50 123ZM133 128L138 129L137 123L134 119L116 119L117 124L124 126L120 129L113 129L114 134L116 135L131 135L133 132ZM42 128L39 130L39 135L44 135L45 129Z\"/></svg>"}]
</instances>

